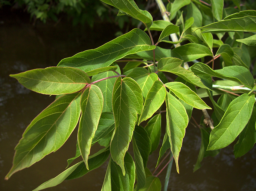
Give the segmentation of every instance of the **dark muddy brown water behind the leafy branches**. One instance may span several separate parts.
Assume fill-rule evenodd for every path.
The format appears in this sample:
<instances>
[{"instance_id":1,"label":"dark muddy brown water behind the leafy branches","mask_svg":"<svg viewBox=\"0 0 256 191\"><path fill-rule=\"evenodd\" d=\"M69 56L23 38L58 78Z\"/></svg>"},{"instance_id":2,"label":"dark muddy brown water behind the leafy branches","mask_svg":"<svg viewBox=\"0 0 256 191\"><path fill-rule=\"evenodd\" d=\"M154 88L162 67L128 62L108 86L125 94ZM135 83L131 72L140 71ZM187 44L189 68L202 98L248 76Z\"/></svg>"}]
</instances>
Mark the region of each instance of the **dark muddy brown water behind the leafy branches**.
<instances>
[{"instance_id":1,"label":"dark muddy brown water behind the leafy branches","mask_svg":"<svg viewBox=\"0 0 256 191\"><path fill-rule=\"evenodd\" d=\"M0 190L29 191L62 171L66 160L75 155L76 130L68 141L55 153L4 180L12 166L14 147L19 142L28 124L47 107L54 97L27 90L17 80L9 77L35 68L56 66L58 62L78 52L97 48L114 38L115 28L108 25L95 27L73 27L69 22L38 24L29 23L29 18L16 13L1 13L0 17ZM194 110L196 120L201 113ZM164 119L164 114L162 115ZM164 130L165 124L163 124ZM163 137L162 137L163 138ZM161 139L162 141L162 139ZM235 159L233 145L221 150L214 158L204 158L202 167L193 173L200 148L200 130L189 125L180 152L180 174L173 165L168 190L172 191L240 191L256 190L256 149ZM94 148L95 151L98 149ZM153 172L158 158L155 151L148 160ZM166 159L165 163L168 161ZM80 160L77 160L78 162ZM75 164L75 163L74 163ZM67 180L46 190L100 190L107 163L76 180ZM158 176L164 184L165 170Z\"/></svg>"}]
</instances>

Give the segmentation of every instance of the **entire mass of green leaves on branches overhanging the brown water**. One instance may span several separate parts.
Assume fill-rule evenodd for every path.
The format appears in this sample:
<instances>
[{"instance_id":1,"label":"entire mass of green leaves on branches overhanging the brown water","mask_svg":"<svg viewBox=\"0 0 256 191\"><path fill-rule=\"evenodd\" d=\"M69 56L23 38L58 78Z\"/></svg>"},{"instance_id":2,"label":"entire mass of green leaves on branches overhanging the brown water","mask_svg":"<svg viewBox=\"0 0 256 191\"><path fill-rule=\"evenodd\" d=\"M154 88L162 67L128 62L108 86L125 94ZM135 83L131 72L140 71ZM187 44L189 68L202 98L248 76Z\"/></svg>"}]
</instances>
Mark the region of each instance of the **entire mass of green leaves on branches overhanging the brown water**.
<instances>
[{"instance_id":1,"label":"entire mass of green leaves on branches overhanging the brown water","mask_svg":"<svg viewBox=\"0 0 256 191\"><path fill-rule=\"evenodd\" d=\"M147 163L161 144L162 115L166 114L166 127L157 166L169 150L179 173L180 150L194 108L203 110L205 118L198 125L202 142L194 171L204 157L215 156L237 139L236 158L252 149L255 10L243 10L239 1L233 1L237 8L231 9L224 8L223 0L174 0L167 4L167 19L153 21L133 0L101 1L116 7L119 16L137 19L145 30L133 29L99 48L65 58L56 67L10 75L32 91L57 96L23 133L6 179L57 151L78 124L76 156L68 159L68 166L79 156L83 160L35 190L79 178L108 158L101 190L161 190ZM166 14L162 1L156 2ZM151 31L159 31L156 43ZM162 43L169 48L161 48ZM210 119L205 113L212 108ZM104 148L92 155L95 143Z\"/></svg>"}]
</instances>

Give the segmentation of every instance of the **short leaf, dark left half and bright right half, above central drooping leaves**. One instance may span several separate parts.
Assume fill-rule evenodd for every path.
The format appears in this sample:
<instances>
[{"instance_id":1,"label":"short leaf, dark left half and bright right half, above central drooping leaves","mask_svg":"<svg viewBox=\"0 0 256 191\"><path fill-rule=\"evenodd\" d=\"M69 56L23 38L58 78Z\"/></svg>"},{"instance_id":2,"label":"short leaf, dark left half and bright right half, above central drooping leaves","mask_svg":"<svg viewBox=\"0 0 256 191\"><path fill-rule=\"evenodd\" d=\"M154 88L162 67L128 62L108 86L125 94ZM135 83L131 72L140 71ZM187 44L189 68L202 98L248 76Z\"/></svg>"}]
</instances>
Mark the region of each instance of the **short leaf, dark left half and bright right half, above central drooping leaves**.
<instances>
[{"instance_id":1,"label":"short leaf, dark left half and bright right half, above central drooping leaves","mask_svg":"<svg viewBox=\"0 0 256 191\"><path fill-rule=\"evenodd\" d=\"M150 90L154 82L158 80L156 73L149 73L147 69L142 67L135 68L126 77L131 77L139 84L142 90L142 97L144 100L146 99L148 91Z\"/></svg>"}]
</instances>

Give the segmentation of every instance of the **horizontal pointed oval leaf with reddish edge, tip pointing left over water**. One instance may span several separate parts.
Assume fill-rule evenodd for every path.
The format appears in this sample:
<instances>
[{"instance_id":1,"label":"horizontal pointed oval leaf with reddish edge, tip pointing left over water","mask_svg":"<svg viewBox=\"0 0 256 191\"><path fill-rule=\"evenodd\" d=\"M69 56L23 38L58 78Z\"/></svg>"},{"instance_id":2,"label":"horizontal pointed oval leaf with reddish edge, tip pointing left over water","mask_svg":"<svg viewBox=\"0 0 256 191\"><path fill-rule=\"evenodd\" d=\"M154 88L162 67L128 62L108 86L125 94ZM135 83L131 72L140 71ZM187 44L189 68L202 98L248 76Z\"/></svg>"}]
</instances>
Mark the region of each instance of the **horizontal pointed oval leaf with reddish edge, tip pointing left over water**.
<instances>
[{"instance_id":1,"label":"horizontal pointed oval leaf with reddish edge, tip pointing left over water","mask_svg":"<svg viewBox=\"0 0 256 191\"><path fill-rule=\"evenodd\" d=\"M26 88L43 94L74 93L90 83L87 74L70 67L48 67L12 74Z\"/></svg>"}]
</instances>

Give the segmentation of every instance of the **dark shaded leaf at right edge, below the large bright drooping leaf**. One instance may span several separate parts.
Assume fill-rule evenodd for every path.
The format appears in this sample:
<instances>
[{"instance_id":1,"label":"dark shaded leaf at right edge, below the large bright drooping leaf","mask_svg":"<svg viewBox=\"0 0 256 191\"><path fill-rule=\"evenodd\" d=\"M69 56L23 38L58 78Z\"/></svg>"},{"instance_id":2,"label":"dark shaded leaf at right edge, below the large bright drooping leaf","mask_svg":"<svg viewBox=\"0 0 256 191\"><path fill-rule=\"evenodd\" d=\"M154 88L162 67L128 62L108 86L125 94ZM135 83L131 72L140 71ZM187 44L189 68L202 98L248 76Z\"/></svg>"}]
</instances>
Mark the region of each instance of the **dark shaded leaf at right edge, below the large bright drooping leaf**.
<instances>
[{"instance_id":1,"label":"dark shaded leaf at right edge, below the large bright drooping leaf","mask_svg":"<svg viewBox=\"0 0 256 191\"><path fill-rule=\"evenodd\" d=\"M244 130L240 133L239 139L234 146L235 157L241 157L252 149L256 143L256 107L252 109L252 116L245 126Z\"/></svg>"}]
</instances>

